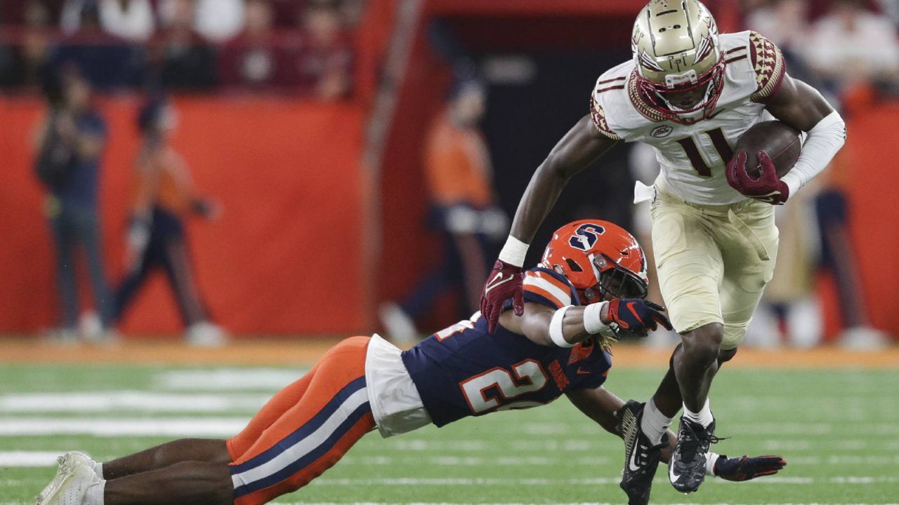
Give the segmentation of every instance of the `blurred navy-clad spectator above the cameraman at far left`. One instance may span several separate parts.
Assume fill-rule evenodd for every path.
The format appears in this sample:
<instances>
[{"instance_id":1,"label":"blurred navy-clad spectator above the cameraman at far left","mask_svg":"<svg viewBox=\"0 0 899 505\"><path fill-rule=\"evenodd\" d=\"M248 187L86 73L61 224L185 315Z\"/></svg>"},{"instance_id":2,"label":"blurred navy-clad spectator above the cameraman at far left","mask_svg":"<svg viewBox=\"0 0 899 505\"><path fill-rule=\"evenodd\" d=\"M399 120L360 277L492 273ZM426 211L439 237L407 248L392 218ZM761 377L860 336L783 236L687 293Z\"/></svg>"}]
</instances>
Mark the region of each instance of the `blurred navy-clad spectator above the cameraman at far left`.
<instances>
[{"instance_id":1,"label":"blurred navy-clad spectator above the cameraman at far left","mask_svg":"<svg viewBox=\"0 0 899 505\"><path fill-rule=\"evenodd\" d=\"M80 9L77 31L60 41L51 65L58 68L75 64L94 87L102 90L142 83L144 49L130 47L127 41L102 31L99 7L94 0L72 0L75 4Z\"/></svg>"}]
</instances>

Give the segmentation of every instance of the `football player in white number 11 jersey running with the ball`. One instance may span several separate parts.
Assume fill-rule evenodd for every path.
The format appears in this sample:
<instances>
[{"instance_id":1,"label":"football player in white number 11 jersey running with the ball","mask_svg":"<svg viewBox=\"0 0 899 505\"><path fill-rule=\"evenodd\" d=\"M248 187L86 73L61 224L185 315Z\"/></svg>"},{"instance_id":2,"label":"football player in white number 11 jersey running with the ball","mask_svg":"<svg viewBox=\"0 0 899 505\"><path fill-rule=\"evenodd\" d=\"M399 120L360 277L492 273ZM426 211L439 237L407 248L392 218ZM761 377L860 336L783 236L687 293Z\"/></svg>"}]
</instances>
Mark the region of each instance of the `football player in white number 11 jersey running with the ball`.
<instances>
[{"instance_id":1,"label":"football player in white number 11 jersey running with the ball","mask_svg":"<svg viewBox=\"0 0 899 505\"><path fill-rule=\"evenodd\" d=\"M820 93L787 74L770 40L743 31L719 35L698 0L653 0L638 14L633 58L601 75L590 112L565 134L530 179L512 233L485 284L481 311L493 326L512 298L522 313L521 265L528 244L571 178L620 141L655 148L662 172L637 184L652 199L653 245L660 287L681 334L671 367L653 398L628 408L621 487L646 502L663 431L683 405L672 485L694 492L703 481L715 420L708 390L734 357L770 280L778 248L774 208L831 161L845 124ZM769 116L770 114L770 116ZM773 117L805 131L797 163L779 179L759 154L761 176L734 155L738 137Z\"/></svg>"}]
</instances>

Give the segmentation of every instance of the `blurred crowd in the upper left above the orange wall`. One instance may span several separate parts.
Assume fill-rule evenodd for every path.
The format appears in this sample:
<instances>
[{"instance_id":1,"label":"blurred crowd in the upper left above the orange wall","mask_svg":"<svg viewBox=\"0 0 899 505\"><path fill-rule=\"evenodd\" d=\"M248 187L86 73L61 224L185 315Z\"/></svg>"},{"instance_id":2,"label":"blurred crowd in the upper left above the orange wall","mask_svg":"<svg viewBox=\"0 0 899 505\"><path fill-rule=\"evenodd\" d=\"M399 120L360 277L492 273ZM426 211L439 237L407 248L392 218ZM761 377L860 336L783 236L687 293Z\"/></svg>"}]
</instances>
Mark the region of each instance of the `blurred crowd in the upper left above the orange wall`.
<instances>
[{"instance_id":1,"label":"blurred crowd in the upper left above the orange wall","mask_svg":"<svg viewBox=\"0 0 899 505\"><path fill-rule=\"evenodd\" d=\"M65 63L103 92L352 93L364 0L0 0L0 89Z\"/></svg>"}]
</instances>

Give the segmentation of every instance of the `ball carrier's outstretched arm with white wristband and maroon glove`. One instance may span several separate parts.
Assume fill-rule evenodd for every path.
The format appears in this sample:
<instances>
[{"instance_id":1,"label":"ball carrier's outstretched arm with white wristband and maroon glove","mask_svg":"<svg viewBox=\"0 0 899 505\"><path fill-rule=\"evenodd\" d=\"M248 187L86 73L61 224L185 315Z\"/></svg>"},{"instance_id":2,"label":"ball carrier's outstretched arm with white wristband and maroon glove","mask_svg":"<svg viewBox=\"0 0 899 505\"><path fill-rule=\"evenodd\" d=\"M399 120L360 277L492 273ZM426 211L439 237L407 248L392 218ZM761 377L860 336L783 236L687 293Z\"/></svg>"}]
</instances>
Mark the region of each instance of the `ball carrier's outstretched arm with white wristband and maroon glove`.
<instances>
[{"instance_id":1,"label":"ball carrier's outstretched arm with white wristband and maroon glove","mask_svg":"<svg viewBox=\"0 0 899 505\"><path fill-rule=\"evenodd\" d=\"M487 319L490 332L494 332L503 304L509 298L512 298L515 314L523 314L521 272L524 256L537 228L556 204L559 193L574 174L615 144L615 140L601 135L587 114L568 130L531 176L528 189L515 211L512 233L499 260L487 275L481 296L481 314Z\"/></svg>"}]
</instances>

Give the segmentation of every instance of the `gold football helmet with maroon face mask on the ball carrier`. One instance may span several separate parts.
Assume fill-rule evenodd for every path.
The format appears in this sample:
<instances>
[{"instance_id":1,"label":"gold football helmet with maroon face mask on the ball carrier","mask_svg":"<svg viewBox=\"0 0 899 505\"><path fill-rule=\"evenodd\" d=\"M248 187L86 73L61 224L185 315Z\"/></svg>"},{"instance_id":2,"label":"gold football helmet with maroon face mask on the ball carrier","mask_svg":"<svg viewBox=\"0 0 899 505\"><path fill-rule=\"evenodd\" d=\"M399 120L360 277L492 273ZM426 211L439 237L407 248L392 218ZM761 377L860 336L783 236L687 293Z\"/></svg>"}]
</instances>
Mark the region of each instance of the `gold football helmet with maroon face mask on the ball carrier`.
<instances>
[{"instance_id":1,"label":"gold football helmet with maroon face mask on the ball carrier","mask_svg":"<svg viewBox=\"0 0 899 505\"><path fill-rule=\"evenodd\" d=\"M692 124L708 118L724 85L724 55L715 19L699 0L653 0L631 35L636 80L665 118Z\"/></svg>"}]
</instances>

